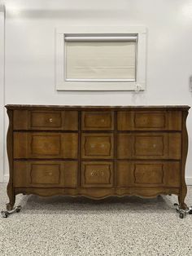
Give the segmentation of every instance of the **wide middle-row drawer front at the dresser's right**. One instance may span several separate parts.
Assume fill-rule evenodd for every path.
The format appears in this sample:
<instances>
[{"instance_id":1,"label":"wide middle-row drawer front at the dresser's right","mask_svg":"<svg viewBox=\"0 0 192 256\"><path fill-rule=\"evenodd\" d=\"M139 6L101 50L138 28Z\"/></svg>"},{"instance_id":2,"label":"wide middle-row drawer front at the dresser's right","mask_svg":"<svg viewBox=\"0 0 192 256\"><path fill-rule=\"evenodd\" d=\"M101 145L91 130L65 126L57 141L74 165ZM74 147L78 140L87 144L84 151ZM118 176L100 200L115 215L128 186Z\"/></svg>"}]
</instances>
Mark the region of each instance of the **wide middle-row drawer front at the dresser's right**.
<instances>
[{"instance_id":1,"label":"wide middle-row drawer front at the dresser's right","mask_svg":"<svg viewBox=\"0 0 192 256\"><path fill-rule=\"evenodd\" d=\"M117 158L181 159L180 133L137 133L117 136Z\"/></svg>"}]
</instances>

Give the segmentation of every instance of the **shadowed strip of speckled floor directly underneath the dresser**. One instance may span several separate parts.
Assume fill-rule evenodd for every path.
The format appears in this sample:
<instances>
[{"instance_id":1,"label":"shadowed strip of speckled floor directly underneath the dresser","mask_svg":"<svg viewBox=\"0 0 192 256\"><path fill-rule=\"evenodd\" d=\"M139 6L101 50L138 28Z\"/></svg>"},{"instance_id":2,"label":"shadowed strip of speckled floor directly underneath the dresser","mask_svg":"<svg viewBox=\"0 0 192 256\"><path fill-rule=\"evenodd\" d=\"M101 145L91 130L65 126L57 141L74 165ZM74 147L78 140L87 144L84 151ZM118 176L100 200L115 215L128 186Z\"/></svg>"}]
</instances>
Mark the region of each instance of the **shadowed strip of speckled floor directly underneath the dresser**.
<instances>
[{"instance_id":1,"label":"shadowed strip of speckled floor directly underneath the dresser","mask_svg":"<svg viewBox=\"0 0 192 256\"><path fill-rule=\"evenodd\" d=\"M172 197L172 198L171 198ZM174 198L174 199L173 199ZM142 198L138 196L111 196L95 201L84 196L22 196L17 205L23 214L133 214L172 212L176 196Z\"/></svg>"}]
</instances>

